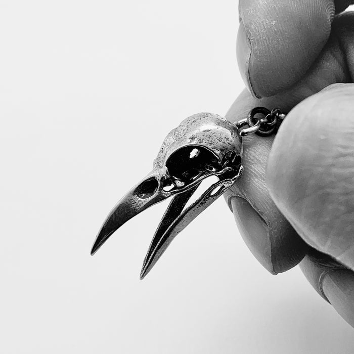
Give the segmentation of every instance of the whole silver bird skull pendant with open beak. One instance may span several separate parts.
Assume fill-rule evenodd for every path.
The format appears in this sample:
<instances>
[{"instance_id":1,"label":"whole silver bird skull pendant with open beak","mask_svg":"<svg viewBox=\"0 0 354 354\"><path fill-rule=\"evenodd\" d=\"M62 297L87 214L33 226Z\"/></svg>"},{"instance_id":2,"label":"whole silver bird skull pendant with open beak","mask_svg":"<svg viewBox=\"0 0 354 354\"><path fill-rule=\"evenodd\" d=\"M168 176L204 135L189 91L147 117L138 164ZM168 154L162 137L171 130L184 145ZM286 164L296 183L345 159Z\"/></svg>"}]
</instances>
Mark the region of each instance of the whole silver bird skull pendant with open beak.
<instances>
[{"instance_id":1,"label":"whole silver bird skull pendant with open beak","mask_svg":"<svg viewBox=\"0 0 354 354\"><path fill-rule=\"evenodd\" d=\"M243 170L241 158L242 138L236 125L212 113L185 119L165 138L153 170L111 210L91 254L127 220L173 196L145 257L143 278L173 238L239 178ZM213 175L218 182L185 208L201 182Z\"/></svg>"}]
</instances>

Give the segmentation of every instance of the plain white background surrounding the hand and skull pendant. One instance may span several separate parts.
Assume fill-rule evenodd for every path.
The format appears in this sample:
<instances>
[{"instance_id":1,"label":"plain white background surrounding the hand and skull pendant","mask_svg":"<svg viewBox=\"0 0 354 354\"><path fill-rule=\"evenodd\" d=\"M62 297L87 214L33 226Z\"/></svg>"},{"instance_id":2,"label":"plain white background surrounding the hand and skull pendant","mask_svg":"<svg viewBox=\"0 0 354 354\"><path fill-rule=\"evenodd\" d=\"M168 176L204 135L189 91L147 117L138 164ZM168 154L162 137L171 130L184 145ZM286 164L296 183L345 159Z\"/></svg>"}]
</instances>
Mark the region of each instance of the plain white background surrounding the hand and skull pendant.
<instances>
[{"instance_id":1,"label":"plain white background surrounding the hand and skull pendant","mask_svg":"<svg viewBox=\"0 0 354 354\"><path fill-rule=\"evenodd\" d=\"M0 352L351 353L300 270L272 276L223 198L140 267L166 203L90 256L167 132L243 89L234 0L0 2Z\"/></svg>"}]
</instances>

